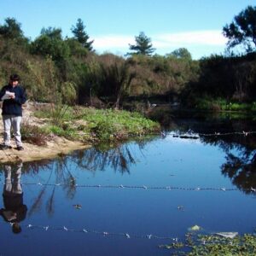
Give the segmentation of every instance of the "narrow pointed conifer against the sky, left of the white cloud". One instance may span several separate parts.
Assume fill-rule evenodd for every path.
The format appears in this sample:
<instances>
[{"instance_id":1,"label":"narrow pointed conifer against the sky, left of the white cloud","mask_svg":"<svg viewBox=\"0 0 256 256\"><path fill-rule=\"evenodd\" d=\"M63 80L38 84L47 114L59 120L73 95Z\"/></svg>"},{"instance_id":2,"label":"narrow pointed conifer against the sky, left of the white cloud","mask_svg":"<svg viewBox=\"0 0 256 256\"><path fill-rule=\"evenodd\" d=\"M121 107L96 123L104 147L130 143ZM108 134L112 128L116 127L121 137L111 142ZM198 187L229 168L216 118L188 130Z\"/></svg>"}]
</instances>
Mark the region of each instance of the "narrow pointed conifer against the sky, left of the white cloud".
<instances>
[{"instance_id":1,"label":"narrow pointed conifer against the sky, left of the white cloud","mask_svg":"<svg viewBox=\"0 0 256 256\"><path fill-rule=\"evenodd\" d=\"M84 22L81 19L78 19L76 26L72 26L71 31L73 32L74 38L79 41L80 44L84 46L84 48L93 50L92 43L94 40L89 41L89 36L87 32L85 32Z\"/></svg>"}]
</instances>

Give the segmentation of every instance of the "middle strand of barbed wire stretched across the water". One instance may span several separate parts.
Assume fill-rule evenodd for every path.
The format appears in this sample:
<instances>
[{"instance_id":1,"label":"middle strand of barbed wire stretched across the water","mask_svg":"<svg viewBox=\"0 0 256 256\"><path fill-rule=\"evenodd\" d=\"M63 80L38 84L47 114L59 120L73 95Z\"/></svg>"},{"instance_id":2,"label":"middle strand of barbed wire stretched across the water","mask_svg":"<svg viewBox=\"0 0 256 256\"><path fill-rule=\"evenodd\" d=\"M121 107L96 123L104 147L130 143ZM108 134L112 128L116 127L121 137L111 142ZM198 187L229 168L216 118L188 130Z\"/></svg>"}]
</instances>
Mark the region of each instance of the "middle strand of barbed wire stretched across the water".
<instances>
[{"instance_id":1,"label":"middle strand of barbed wire stretched across the water","mask_svg":"<svg viewBox=\"0 0 256 256\"><path fill-rule=\"evenodd\" d=\"M2 184L4 184L2 182ZM229 188L185 188L185 187L172 187L172 186L162 186L162 187L154 187L154 186L132 186L132 185L90 185L90 184L72 184L72 183L21 183L22 185L34 185L34 186L49 186L49 187L66 187L66 186L73 186L75 188L84 188L84 189L162 189L162 190L192 190L192 191L206 191L206 190L213 190L213 191L239 191L239 189L229 189ZM256 192L256 188L251 187L250 189L244 189L251 192Z\"/></svg>"}]
</instances>

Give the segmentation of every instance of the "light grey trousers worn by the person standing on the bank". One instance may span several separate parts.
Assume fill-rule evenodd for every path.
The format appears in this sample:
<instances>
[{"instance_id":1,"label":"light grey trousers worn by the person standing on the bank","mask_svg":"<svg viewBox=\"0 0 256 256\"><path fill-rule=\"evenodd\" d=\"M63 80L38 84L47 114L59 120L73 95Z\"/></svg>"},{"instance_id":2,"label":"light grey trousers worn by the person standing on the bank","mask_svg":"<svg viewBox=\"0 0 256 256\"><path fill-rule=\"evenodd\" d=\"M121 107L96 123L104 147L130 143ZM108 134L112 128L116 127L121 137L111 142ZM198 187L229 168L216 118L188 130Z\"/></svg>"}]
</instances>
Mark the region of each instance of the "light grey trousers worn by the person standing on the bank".
<instances>
[{"instance_id":1,"label":"light grey trousers worn by the person standing on the bank","mask_svg":"<svg viewBox=\"0 0 256 256\"><path fill-rule=\"evenodd\" d=\"M3 115L3 143L6 146L10 146L10 131L13 127L15 143L17 147L22 146L21 143L21 135L20 135L20 124L21 124L21 116L15 116L12 114Z\"/></svg>"}]
</instances>

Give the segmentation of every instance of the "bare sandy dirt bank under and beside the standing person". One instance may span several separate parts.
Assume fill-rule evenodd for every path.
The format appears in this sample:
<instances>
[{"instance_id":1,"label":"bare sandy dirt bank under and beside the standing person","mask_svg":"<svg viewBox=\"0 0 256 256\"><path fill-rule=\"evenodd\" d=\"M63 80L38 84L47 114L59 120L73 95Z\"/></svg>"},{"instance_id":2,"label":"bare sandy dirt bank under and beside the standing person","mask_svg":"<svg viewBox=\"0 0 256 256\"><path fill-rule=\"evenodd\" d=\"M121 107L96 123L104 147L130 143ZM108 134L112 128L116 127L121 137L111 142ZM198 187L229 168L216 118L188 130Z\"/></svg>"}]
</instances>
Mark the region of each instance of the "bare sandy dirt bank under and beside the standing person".
<instances>
[{"instance_id":1,"label":"bare sandy dirt bank under and beside the standing person","mask_svg":"<svg viewBox=\"0 0 256 256\"><path fill-rule=\"evenodd\" d=\"M26 103L23 108L23 122L27 122L31 125L40 125L42 122L40 119L37 119L33 116L34 111L33 103ZM2 115L0 118L0 135L2 138L0 142L3 142L3 120ZM31 143L24 143L23 147L25 150L18 151L15 146L14 139L11 141L12 148L1 150L0 149L0 163L6 162L28 162L33 160L44 160L44 159L53 159L58 155L69 154L73 150L90 148L91 145L84 144L81 142L69 141L63 137L54 137L45 146L37 146Z\"/></svg>"}]
</instances>

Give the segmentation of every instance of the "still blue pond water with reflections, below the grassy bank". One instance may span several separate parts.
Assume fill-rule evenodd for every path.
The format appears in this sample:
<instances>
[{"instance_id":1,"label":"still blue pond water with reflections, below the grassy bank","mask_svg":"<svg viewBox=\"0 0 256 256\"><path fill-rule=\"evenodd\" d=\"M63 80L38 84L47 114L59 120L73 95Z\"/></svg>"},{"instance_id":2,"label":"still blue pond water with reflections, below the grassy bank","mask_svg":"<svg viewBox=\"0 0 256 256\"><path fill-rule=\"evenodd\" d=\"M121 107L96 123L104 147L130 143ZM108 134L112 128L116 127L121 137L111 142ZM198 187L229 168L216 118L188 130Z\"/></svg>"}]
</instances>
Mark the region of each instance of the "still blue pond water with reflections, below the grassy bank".
<instances>
[{"instance_id":1,"label":"still blue pond water with reflections, below the grassy bank","mask_svg":"<svg viewBox=\"0 0 256 256\"><path fill-rule=\"evenodd\" d=\"M256 134L243 131L256 123L176 119L159 137L2 166L3 194L23 194L22 231L1 218L0 254L170 255L158 246L183 241L195 224L207 234L252 233Z\"/></svg>"}]
</instances>

